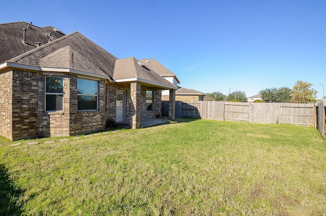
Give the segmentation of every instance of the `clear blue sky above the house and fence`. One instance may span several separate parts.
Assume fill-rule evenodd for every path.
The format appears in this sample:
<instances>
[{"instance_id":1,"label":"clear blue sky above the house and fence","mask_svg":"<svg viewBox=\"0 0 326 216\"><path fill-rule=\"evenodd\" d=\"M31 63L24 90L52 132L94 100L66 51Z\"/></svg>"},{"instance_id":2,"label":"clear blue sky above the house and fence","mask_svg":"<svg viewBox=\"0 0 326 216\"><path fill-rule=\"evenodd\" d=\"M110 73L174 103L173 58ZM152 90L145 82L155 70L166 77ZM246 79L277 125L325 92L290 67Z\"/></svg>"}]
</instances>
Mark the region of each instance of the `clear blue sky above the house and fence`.
<instances>
[{"instance_id":1,"label":"clear blue sky above the house and fence","mask_svg":"<svg viewBox=\"0 0 326 216\"><path fill-rule=\"evenodd\" d=\"M156 59L204 93L326 88L325 0L4 1L0 22L78 31L117 58ZM326 90L325 90L326 91ZM325 93L326 94L326 93Z\"/></svg>"}]
</instances>

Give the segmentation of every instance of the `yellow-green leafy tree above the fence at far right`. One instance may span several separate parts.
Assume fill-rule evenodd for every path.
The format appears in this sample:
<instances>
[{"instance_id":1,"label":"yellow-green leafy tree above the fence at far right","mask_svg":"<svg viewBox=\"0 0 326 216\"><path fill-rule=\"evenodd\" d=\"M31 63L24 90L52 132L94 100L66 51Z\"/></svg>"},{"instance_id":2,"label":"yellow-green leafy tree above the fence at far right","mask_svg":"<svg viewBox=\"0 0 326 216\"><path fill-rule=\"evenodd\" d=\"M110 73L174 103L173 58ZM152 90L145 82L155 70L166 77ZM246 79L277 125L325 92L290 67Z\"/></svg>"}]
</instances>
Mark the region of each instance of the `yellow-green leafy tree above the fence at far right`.
<instances>
[{"instance_id":1,"label":"yellow-green leafy tree above the fence at far right","mask_svg":"<svg viewBox=\"0 0 326 216\"><path fill-rule=\"evenodd\" d=\"M290 92L291 103L314 103L317 102L317 91L311 88L312 84L296 81Z\"/></svg>"}]
</instances>

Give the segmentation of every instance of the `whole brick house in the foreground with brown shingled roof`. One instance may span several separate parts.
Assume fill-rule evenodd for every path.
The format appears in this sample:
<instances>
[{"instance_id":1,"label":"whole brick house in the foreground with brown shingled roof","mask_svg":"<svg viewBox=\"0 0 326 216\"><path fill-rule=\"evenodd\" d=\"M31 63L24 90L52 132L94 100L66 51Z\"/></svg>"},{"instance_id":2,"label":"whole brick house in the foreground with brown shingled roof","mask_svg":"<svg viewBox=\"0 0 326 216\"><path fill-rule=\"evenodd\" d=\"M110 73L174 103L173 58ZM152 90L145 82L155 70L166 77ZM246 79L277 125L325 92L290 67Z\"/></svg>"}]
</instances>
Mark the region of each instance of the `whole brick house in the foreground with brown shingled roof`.
<instances>
[{"instance_id":1,"label":"whole brick house in the foreground with brown shingled roof","mask_svg":"<svg viewBox=\"0 0 326 216\"><path fill-rule=\"evenodd\" d=\"M161 114L177 86L133 57L117 59L82 34L26 22L0 24L0 135L70 136Z\"/></svg>"}]
</instances>

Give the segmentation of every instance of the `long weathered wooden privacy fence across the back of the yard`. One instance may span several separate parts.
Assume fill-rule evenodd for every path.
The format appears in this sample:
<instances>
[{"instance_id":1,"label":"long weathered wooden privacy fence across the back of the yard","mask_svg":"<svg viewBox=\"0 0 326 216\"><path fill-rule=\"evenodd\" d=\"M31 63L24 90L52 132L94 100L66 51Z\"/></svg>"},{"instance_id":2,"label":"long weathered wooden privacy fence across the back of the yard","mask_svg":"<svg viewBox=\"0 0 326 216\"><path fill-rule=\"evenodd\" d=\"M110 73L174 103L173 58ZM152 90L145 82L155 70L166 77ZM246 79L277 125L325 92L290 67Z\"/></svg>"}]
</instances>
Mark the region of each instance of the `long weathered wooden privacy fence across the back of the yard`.
<instances>
[{"instance_id":1,"label":"long weathered wooden privacy fence across the back of the yard","mask_svg":"<svg viewBox=\"0 0 326 216\"><path fill-rule=\"evenodd\" d=\"M165 108L162 107L162 110L169 110L166 103L163 105ZM175 107L176 117L309 126L317 124L316 104L314 103L176 101Z\"/></svg>"}]
</instances>

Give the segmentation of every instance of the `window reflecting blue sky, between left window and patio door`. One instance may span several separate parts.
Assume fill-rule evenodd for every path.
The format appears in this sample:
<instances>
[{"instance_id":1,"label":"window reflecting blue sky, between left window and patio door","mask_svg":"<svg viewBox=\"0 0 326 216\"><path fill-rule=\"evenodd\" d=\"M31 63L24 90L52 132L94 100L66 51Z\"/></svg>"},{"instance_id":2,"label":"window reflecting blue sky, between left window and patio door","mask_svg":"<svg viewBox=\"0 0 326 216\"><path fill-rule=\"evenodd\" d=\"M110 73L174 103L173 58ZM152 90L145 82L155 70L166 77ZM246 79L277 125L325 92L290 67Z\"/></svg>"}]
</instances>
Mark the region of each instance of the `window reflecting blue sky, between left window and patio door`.
<instances>
[{"instance_id":1,"label":"window reflecting blue sky, between left window and patio door","mask_svg":"<svg viewBox=\"0 0 326 216\"><path fill-rule=\"evenodd\" d=\"M97 81L77 80L77 110L97 110Z\"/></svg>"}]
</instances>

